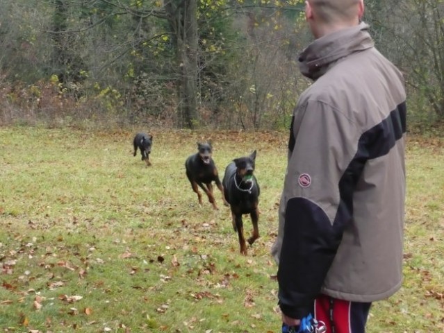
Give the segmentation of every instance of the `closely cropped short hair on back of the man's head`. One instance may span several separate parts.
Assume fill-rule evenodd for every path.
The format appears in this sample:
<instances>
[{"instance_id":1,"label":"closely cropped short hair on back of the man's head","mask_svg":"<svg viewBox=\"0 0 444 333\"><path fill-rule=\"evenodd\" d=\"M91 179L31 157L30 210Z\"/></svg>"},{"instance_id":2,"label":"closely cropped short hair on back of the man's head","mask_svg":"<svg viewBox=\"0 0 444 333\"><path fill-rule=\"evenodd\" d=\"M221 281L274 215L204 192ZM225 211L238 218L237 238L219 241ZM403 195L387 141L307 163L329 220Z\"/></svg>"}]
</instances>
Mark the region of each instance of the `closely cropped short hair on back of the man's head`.
<instances>
[{"instance_id":1,"label":"closely cropped short hair on back of the man's head","mask_svg":"<svg viewBox=\"0 0 444 333\"><path fill-rule=\"evenodd\" d=\"M356 18L360 0L308 0L313 14L320 21L331 24Z\"/></svg>"}]
</instances>

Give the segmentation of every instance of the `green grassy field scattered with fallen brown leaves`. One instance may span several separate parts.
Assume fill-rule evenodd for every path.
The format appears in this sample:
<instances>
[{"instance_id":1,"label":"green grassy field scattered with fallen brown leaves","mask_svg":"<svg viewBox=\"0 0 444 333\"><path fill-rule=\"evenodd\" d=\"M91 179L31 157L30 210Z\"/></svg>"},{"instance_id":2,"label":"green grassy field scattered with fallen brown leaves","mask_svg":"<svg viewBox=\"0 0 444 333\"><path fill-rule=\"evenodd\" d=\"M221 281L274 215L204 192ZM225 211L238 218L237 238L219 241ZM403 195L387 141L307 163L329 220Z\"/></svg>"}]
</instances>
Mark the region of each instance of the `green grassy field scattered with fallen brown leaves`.
<instances>
[{"instance_id":1,"label":"green grassy field scattered with fallen brown leaves","mask_svg":"<svg viewBox=\"0 0 444 333\"><path fill-rule=\"evenodd\" d=\"M0 128L0 332L280 332L270 246L287 133ZM256 149L261 238L199 207L183 164L212 139L220 175ZM409 137L404 287L369 333L444 332L444 142ZM245 219L245 231L251 230Z\"/></svg>"}]
</instances>

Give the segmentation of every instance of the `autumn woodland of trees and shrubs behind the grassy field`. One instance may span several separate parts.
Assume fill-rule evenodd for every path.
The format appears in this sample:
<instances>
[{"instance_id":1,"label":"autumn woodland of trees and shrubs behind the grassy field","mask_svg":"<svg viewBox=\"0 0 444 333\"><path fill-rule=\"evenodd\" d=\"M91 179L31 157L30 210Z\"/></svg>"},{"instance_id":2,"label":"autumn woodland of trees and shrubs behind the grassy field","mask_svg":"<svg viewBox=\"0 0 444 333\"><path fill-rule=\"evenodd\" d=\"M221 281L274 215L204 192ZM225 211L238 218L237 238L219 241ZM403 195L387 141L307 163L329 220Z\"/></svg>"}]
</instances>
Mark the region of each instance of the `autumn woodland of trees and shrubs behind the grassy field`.
<instances>
[{"instance_id":1,"label":"autumn woodland of trees and shrubs behind the grassy field","mask_svg":"<svg viewBox=\"0 0 444 333\"><path fill-rule=\"evenodd\" d=\"M0 0L0 124L282 129L309 81L298 0ZM409 93L441 133L444 1L367 0Z\"/></svg>"}]
</instances>

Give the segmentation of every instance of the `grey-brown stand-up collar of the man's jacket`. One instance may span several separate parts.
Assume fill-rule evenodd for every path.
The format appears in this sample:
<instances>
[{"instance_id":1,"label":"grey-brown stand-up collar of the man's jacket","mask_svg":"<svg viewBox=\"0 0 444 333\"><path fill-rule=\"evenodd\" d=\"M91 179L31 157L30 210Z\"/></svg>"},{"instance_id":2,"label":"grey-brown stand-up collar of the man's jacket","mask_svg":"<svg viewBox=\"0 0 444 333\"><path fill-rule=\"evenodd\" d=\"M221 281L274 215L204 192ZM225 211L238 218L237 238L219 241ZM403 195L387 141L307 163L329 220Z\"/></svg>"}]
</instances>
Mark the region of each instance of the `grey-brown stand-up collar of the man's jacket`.
<instances>
[{"instance_id":1,"label":"grey-brown stand-up collar of the man's jacket","mask_svg":"<svg viewBox=\"0 0 444 333\"><path fill-rule=\"evenodd\" d=\"M301 73L316 80L340 58L370 49L374 43L368 29L368 24L361 22L358 26L335 31L318 38L299 55Z\"/></svg>"}]
</instances>

